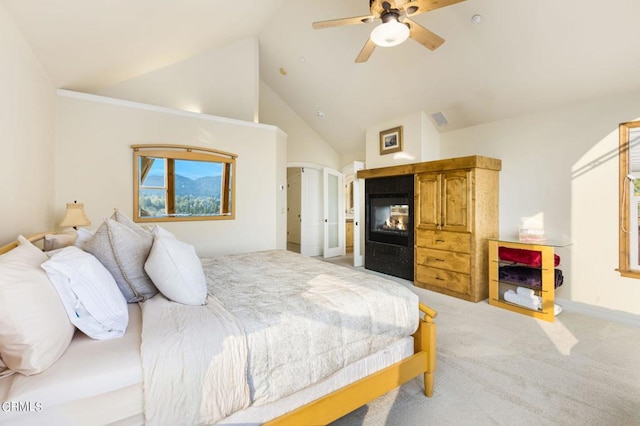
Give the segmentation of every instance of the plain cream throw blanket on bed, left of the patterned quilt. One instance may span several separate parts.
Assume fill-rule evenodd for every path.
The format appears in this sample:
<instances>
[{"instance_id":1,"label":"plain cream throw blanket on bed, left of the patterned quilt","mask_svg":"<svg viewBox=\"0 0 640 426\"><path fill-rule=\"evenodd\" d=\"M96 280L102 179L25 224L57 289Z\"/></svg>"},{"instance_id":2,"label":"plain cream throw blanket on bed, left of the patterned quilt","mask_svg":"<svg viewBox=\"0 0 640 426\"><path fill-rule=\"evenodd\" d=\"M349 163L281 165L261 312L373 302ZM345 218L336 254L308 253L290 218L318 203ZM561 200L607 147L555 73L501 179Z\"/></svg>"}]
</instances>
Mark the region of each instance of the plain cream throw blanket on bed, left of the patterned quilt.
<instances>
[{"instance_id":1,"label":"plain cream throw blanket on bed, left of the patterned quilt","mask_svg":"<svg viewBox=\"0 0 640 426\"><path fill-rule=\"evenodd\" d=\"M215 297L140 306L147 425L213 424L249 405L246 338Z\"/></svg>"}]
</instances>

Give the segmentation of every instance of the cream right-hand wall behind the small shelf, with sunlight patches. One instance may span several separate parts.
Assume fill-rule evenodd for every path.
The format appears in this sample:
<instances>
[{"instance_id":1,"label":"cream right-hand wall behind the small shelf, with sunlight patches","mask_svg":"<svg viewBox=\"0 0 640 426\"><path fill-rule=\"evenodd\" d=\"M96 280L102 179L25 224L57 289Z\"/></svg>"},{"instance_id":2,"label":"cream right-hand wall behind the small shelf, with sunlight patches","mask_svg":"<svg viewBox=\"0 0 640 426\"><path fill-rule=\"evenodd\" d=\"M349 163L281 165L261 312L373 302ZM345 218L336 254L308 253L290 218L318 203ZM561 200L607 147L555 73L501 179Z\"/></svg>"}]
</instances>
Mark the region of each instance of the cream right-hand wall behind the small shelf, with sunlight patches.
<instances>
[{"instance_id":1,"label":"cream right-hand wall behind the small shelf, with sunlight patches","mask_svg":"<svg viewBox=\"0 0 640 426\"><path fill-rule=\"evenodd\" d=\"M500 234L544 213L561 249L565 284L557 297L640 314L640 280L618 266L618 124L640 118L640 93L599 99L441 135L443 158L502 160Z\"/></svg>"}]
</instances>

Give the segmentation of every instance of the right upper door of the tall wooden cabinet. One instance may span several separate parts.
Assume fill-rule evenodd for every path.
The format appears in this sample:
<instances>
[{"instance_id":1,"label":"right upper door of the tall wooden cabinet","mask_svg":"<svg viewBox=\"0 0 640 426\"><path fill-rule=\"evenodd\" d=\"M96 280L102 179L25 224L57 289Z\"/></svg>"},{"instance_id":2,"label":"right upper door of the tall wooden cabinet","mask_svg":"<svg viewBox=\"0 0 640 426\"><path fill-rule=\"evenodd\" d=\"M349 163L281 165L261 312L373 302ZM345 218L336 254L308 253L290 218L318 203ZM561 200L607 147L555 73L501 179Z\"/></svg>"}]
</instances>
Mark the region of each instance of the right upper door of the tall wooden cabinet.
<instances>
[{"instance_id":1,"label":"right upper door of the tall wooden cabinet","mask_svg":"<svg viewBox=\"0 0 640 426\"><path fill-rule=\"evenodd\" d=\"M441 229L471 231L471 172L455 170L441 175Z\"/></svg>"}]
</instances>

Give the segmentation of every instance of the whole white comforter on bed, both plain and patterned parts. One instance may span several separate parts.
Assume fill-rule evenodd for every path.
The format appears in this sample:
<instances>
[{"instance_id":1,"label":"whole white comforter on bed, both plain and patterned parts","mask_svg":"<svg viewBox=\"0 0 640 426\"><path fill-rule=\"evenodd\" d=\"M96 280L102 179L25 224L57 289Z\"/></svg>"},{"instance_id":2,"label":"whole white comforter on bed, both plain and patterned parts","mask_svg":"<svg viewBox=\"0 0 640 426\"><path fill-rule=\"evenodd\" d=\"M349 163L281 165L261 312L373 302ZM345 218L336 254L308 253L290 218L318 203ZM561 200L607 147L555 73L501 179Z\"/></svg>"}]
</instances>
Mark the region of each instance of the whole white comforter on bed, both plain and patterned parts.
<instances>
[{"instance_id":1,"label":"whole white comforter on bed, both plain and patterned parts","mask_svg":"<svg viewBox=\"0 0 640 426\"><path fill-rule=\"evenodd\" d=\"M148 424L214 423L321 381L418 326L413 292L351 268L284 250L202 265L206 306L162 296L141 304Z\"/></svg>"}]
</instances>

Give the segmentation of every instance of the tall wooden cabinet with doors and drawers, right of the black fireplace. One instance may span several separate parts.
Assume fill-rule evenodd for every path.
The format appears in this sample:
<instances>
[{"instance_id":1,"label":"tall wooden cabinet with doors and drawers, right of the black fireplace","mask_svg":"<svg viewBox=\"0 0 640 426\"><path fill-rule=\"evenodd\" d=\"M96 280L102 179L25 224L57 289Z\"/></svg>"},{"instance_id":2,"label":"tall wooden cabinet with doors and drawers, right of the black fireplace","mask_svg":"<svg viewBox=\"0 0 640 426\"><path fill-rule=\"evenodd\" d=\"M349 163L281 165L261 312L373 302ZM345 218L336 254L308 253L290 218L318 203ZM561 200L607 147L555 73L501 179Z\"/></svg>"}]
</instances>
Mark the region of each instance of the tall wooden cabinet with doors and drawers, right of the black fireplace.
<instances>
[{"instance_id":1,"label":"tall wooden cabinet with doors and drawers, right of the black fireplace","mask_svg":"<svg viewBox=\"0 0 640 426\"><path fill-rule=\"evenodd\" d=\"M476 156L430 168L415 175L414 284L473 302L486 299L487 239L498 235L501 163Z\"/></svg>"}]
</instances>

